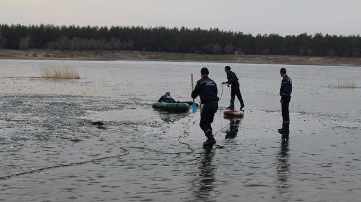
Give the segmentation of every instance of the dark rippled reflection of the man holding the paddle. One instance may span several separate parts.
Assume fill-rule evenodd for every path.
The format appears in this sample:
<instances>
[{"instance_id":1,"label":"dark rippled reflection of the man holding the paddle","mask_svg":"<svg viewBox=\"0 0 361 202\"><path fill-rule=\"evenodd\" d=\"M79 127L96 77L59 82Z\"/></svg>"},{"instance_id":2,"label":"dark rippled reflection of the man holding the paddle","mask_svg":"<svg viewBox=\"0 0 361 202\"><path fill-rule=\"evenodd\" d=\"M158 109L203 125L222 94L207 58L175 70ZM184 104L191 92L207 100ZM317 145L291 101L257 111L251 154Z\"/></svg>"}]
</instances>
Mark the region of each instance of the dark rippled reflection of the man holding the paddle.
<instances>
[{"instance_id":1,"label":"dark rippled reflection of the man holding the paddle","mask_svg":"<svg viewBox=\"0 0 361 202\"><path fill-rule=\"evenodd\" d=\"M212 165L213 156L214 149L206 149L202 154L201 164L198 167L200 179L195 182L195 186L198 187L197 190L194 190L196 201L212 201L210 199L214 198L212 193L216 178L213 171L216 168Z\"/></svg>"}]
</instances>

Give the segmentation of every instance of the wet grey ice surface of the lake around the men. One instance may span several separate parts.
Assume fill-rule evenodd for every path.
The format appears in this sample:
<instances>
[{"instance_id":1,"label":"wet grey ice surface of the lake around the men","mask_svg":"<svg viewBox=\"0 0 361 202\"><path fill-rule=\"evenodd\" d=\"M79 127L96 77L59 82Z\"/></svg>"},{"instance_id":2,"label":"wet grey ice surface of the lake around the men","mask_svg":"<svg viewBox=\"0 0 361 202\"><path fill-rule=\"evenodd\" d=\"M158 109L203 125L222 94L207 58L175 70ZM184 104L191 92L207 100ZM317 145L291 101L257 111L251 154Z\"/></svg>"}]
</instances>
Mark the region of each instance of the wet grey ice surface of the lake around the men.
<instances>
[{"instance_id":1,"label":"wet grey ice surface of the lake around the men","mask_svg":"<svg viewBox=\"0 0 361 202\"><path fill-rule=\"evenodd\" d=\"M45 80L41 66L63 65L82 79ZM0 201L358 201L361 197L361 68L233 64L245 100L241 120L224 119L223 86L215 116L217 143L201 148L199 113L173 114L151 103L164 92L189 101L190 73L201 67L219 87L221 63L0 61L0 177L124 153L81 165L0 180ZM279 69L293 79L291 133L281 126ZM131 99L129 99L131 98ZM239 103L236 101L236 106ZM193 118L192 118L193 117ZM104 129L92 125L103 121ZM230 124L229 126L226 126Z\"/></svg>"}]
</instances>

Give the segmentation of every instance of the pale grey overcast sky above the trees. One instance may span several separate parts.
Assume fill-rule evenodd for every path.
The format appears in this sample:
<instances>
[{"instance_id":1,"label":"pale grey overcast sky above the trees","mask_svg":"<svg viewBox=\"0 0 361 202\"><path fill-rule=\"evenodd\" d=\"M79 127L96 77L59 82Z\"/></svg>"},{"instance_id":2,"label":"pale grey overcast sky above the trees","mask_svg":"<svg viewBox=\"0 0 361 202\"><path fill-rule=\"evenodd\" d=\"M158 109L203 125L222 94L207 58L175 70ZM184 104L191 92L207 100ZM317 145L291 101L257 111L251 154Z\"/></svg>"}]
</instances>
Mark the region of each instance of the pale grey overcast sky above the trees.
<instances>
[{"instance_id":1,"label":"pale grey overcast sky above the trees","mask_svg":"<svg viewBox=\"0 0 361 202\"><path fill-rule=\"evenodd\" d=\"M0 0L0 23L361 34L361 0Z\"/></svg>"}]
</instances>

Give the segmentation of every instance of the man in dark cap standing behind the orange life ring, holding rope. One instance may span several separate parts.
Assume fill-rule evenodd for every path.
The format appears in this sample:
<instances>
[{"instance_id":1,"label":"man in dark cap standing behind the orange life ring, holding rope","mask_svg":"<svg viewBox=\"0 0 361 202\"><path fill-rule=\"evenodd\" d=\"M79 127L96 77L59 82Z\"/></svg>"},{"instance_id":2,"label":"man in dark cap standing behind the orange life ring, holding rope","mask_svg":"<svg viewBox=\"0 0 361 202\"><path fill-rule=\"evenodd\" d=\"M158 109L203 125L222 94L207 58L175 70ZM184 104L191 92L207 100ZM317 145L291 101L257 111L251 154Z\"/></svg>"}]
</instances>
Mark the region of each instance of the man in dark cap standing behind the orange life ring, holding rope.
<instances>
[{"instance_id":1,"label":"man in dark cap standing behind the orange life ring, holding rope","mask_svg":"<svg viewBox=\"0 0 361 202\"><path fill-rule=\"evenodd\" d=\"M234 99L237 96L237 98L241 104L240 110L242 110L242 108L244 108L244 102L243 102L243 98L242 98L242 95L240 92L240 83L238 82L238 78L237 78L236 74L231 71L230 66L225 66L224 72L227 73L228 81L222 82L222 84L227 84L228 86L231 85L231 104L229 105L229 107L227 107L227 109L230 109L230 110L234 109Z\"/></svg>"}]
</instances>

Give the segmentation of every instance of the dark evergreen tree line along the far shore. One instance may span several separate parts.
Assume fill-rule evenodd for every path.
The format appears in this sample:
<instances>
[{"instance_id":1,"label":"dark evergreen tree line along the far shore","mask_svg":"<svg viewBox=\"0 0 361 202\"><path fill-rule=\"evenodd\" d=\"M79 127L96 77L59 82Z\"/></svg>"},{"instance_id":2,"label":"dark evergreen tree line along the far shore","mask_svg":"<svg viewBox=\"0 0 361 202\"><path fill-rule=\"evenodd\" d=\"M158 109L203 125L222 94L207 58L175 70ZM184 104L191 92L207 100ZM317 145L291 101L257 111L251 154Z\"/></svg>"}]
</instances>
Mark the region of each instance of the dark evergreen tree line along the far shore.
<instances>
[{"instance_id":1,"label":"dark evergreen tree line along the far shore","mask_svg":"<svg viewBox=\"0 0 361 202\"><path fill-rule=\"evenodd\" d=\"M361 36L252 35L217 28L0 25L0 48L361 57Z\"/></svg>"}]
</instances>

